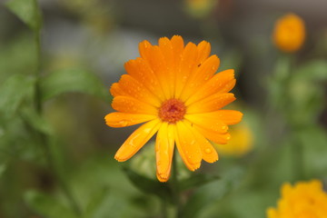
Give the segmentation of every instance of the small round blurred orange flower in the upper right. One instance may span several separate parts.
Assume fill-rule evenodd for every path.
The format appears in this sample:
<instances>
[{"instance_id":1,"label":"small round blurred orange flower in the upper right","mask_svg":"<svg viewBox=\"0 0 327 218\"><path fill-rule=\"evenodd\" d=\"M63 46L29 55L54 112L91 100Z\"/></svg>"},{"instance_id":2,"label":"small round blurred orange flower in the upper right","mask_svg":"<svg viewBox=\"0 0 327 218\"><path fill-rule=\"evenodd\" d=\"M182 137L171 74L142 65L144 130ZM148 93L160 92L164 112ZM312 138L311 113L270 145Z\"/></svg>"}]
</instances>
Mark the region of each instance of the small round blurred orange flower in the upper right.
<instances>
[{"instance_id":1,"label":"small round blurred orange flower in the upper right","mask_svg":"<svg viewBox=\"0 0 327 218\"><path fill-rule=\"evenodd\" d=\"M287 14L278 19L274 25L273 42L283 52L298 51L304 43L305 25L301 17Z\"/></svg>"}]
</instances>

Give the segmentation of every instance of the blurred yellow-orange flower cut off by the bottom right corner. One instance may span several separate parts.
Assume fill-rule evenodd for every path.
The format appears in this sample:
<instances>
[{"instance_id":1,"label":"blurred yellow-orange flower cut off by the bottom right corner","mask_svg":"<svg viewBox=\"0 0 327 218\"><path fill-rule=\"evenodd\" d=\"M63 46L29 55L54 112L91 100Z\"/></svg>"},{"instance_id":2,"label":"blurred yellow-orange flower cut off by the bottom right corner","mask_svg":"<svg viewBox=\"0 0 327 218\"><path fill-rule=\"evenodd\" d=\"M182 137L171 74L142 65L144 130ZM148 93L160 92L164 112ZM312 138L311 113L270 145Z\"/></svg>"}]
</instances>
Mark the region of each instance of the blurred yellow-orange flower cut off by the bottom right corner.
<instances>
[{"instance_id":1,"label":"blurred yellow-orange flower cut off by the bottom right corner","mask_svg":"<svg viewBox=\"0 0 327 218\"><path fill-rule=\"evenodd\" d=\"M293 187L282 185L282 198L277 208L268 208L268 218L326 218L327 193L322 190L322 182L299 182Z\"/></svg>"}]
</instances>

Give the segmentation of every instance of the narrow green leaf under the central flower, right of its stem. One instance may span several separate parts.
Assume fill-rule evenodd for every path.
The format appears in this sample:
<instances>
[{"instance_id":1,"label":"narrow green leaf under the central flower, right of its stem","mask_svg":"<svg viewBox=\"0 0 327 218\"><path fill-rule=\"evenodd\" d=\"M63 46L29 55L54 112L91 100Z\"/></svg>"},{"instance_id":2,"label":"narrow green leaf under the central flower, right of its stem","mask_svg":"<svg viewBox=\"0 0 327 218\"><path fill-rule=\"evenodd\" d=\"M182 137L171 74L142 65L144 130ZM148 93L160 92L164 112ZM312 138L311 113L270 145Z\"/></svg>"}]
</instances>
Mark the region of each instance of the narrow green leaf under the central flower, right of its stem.
<instances>
[{"instance_id":1,"label":"narrow green leaf under the central flower, right of its stem","mask_svg":"<svg viewBox=\"0 0 327 218\"><path fill-rule=\"evenodd\" d=\"M216 181L220 179L219 175L214 174L193 174L190 178L183 179L179 182L179 190L185 191L188 189L192 189L194 187L199 187L206 183L211 183L213 181Z\"/></svg>"}]
</instances>

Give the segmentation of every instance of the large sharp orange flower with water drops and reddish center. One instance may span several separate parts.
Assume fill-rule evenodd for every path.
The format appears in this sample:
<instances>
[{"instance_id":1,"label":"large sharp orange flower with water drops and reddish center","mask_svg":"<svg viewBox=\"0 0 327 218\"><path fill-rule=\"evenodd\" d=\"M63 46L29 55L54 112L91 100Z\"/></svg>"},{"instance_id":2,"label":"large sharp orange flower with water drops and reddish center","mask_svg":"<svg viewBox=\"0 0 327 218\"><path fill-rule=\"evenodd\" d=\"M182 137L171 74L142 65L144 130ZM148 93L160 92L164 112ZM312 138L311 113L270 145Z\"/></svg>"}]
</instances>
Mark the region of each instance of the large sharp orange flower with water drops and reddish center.
<instances>
[{"instance_id":1,"label":"large sharp orange flower with water drops and reddish center","mask_svg":"<svg viewBox=\"0 0 327 218\"><path fill-rule=\"evenodd\" d=\"M229 124L237 124L242 113L221 110L235 100L228 93L235 84L233 70L214 74L219 58L210 55L211 46L183 45L183 38L159 39L159 45L140 43L141 57L124 67L127 74L111 87L113 108L105 122L112 127L141 124L120 147L114 158L124 162L156 135L156 174L169 179L176 144L183 162L194 171L204 160L213 163L218 154L207 139L226 144Z\"/></svg>"}]
</instances>

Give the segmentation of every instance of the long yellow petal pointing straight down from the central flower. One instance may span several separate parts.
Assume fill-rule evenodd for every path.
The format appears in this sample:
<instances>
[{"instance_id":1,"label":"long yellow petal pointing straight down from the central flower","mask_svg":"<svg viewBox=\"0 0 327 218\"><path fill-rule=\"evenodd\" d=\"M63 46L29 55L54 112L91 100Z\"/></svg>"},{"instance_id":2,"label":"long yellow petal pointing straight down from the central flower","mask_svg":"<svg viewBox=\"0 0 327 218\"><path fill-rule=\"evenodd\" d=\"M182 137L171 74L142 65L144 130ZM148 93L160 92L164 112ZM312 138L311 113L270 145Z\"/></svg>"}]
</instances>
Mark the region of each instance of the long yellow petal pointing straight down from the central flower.
<instances>
[{"instance_id":1,"label":"long yellow petal pointing straight down from the central flower","mask_svg":"<svg viewBox=\"0 0 327 218\"><path fill-rule=\"evenodd\" d=\"M173 144L173 125L163 123L158 131L155 142L156 175L160 182L166 182L170 177L173 159Z\"/></svg>"}]
</instances>

